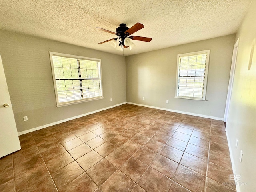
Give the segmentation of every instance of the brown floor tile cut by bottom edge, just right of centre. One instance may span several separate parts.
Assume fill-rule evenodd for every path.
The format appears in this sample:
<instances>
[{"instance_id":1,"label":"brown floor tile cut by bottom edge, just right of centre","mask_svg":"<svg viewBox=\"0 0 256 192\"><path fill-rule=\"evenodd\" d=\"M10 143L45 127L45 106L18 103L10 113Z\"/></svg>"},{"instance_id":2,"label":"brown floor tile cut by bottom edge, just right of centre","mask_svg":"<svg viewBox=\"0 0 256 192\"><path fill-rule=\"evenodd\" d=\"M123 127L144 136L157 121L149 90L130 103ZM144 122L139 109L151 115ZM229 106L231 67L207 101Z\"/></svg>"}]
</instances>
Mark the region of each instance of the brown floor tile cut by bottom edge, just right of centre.
<instances>
[{"instance_id":1,"label":"brown floor tile cut by bottom edge, just right of centre","mask_svg":"<svg viewBox=\"0 0 256 192\"><path fill-rule=\"evenodd\" d=\"M147 192L162 192L168 191L171 182L172 180L149 167L138 182L138 185Z\"/></svg>"}]
</instances>

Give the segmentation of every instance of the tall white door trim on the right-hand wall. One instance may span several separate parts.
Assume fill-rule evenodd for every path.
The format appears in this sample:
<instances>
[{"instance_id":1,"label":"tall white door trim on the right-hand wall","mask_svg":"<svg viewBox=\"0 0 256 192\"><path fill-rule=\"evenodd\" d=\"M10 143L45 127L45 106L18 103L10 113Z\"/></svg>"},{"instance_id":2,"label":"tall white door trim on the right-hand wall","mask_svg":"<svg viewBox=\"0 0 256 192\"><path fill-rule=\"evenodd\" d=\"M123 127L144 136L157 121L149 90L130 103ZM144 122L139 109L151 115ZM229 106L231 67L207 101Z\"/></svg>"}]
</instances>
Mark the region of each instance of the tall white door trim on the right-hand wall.
<instances>
[{"instance_id":1,"label":"tall white door trim on the right-hand wall","mask_svg":"<svg viewBox=\"0 0 256 192\"><path fill-rule=\"evenodd\" d=\"M224 113L224 122L228 121L228 112L229 112L229 107L230 107L230 100L231 100L232 88L233 88L233 82L234 82L234 76L235 76L235 70L236 70L236 58L237 58L237 53L238 53L238 43L239 43L239 38L236 41L236 43L234 44L234 48L233 48L230 77L229 77L229 83L228 83L228 94L227 94L226 107L225 107L225 113Z\"/></svg>"}]
</instances>

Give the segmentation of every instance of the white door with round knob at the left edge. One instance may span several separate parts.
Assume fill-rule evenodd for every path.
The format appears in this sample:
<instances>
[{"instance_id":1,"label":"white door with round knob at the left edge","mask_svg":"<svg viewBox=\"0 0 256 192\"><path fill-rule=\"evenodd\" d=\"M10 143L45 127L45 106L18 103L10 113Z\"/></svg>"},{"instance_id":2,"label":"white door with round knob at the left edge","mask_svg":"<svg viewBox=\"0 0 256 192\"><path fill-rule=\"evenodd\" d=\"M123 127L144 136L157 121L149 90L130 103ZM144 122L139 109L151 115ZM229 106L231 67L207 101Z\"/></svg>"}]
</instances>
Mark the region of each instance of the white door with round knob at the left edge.
<instances>
[{"instance_id":1,"label":"white door with round knob at the left edge","mask_svg":"<svg viewBox=\"0 0 256 192\"><path fill-rule=\"evenodd\" d=\"M20 140L0 55L0 158L20 150Z\"/></svg>"}]
</instances>

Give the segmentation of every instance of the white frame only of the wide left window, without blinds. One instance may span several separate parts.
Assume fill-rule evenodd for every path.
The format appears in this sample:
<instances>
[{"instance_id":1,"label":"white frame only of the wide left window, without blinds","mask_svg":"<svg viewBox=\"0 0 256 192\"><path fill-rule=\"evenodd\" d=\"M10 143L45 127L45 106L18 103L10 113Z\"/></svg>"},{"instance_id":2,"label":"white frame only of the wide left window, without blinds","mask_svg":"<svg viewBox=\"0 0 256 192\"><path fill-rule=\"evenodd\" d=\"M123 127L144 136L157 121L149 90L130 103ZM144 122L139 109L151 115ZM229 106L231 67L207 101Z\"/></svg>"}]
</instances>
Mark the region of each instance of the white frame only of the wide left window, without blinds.
<instances>
[{"instance_id":1,"label":"white frame only of the wide left window, without blinds","mask_svg":"<svg viewBox=\"0 0 256 192\"><path fill-rule=\"evenodd\" d=\"M57 52L51 52L51 51L49 51L49 55L50 55L50 63L51 63L51 68L52 68L52 79L53 79L53 83L54 83L54 91L55 91L55 98L56 98L56 106L57 107L68 106L68 105L72 105L72 104L78 104L78 103L82 103L82 102L88 102L88 101L99 100L99 99L104 98L104 96L103 96L103 87L102 87L101 59L89 58L89 57L77 56L77 55L71 55L71 54L64 54L64 53L57 53ZM94 97L94 98L83 98L83 99L72 100L72 101L67 101L67 102L59 102L52 56L60 56L60 57L83 59L83 60L90 60L90 61L99 62L98 69L99 69L101 96L100 97Z\"/></svg>"}]
</instances>

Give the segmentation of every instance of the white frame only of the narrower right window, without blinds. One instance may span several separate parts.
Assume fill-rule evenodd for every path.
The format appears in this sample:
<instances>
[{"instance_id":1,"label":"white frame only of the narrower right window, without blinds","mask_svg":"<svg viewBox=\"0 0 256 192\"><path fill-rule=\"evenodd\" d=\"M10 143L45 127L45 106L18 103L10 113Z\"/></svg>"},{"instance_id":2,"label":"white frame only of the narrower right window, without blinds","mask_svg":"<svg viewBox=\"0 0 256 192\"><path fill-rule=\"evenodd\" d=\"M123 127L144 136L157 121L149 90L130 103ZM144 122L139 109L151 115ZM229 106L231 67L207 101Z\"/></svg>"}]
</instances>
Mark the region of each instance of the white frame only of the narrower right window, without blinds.
<instances>
[{"instance_id":1,"label":"white frame only of the narrower right window, without blinds","mask_svg":"<svg viewBox=\"0 0 256 192\"><path fill-rule=\"evenodd\" d=\"M207 53L207 57L206 57L206 67L205 67L205 75L204 75L203 97L202 97L202 98L195 98L195 97L178 96L178 82L179 82L180 57L181 57L181 56L192 56L192 55L204 54L204 53ZM207 81L208 81L209 58L210 58L210 50L202 50L202 51L196 51L196 52L190 52L190 53L183 53L183 54L178 54L178 55L177 55L177 72L176 72L176 90L175 90L175 98L206 101L206 87L207 87Z\"/></svg>"}]
</instances>

